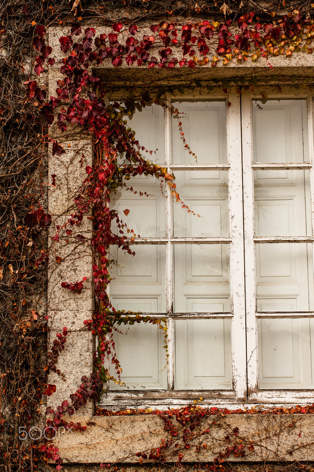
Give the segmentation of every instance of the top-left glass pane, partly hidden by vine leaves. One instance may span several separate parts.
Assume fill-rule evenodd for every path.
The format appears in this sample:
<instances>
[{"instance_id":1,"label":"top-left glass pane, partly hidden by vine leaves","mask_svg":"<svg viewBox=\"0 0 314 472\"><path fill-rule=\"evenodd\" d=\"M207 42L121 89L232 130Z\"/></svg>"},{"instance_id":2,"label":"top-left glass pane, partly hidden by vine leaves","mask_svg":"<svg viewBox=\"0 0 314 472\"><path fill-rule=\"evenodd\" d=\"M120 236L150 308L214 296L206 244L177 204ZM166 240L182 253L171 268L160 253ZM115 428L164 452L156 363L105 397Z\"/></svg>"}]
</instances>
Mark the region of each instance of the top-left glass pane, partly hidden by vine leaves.
<instances>
[{"instance_id":1,"label":"top-left glass pane, partly hidden by vine leaves","mask_svg":"<svg viewBox=\"0 0 314 472\"><path fill-rule=\"evenodd\" d=\"M135 139L148 151L140 151L142 156L156 164L165 164L165 112L158 105L136 110L128 126L135 131ZM152 155L149 151L153 151ZM123 163L124 160L121 160Z\"/></svg>"}]
</instances>

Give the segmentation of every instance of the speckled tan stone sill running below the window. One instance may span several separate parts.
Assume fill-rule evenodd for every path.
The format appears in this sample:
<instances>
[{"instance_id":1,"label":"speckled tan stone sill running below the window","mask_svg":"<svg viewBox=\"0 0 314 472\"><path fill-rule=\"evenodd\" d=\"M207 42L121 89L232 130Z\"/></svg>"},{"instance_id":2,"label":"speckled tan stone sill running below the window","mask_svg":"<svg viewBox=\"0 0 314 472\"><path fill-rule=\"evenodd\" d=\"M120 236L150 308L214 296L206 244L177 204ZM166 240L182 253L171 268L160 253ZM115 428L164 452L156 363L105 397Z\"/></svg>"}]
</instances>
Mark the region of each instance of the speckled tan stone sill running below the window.
<instances>
[{"instance_id":1,"label":"speckled tan stone sill running below the window","mask_svg":"<svg viewBox=\"0 0 314 472\"><path fill-rule=\"evenodd\" d=\"M206 443L207 449L200 447L199 453L195 447L185 449L182 462L212 461L235 440L238 444L242 440L246 445L246 456L242 459L231 455L228 459L232 461L313 461L313 420L311 414L212 416L202 425L202 430L210 429L209 435L200 439L200 445ZM163 421L154 415L94 416L89 421L86 417L77 417L77 421L82 425L93 424L87 424L83 432L60 435L56 441L60 456L69 463L138 463L137 452L150 451L166 438ZM239 428L236 439L235 427ZM226 442L226 435L230 436L230 443ZM192 440L190 444L193 444ZM249 444L254 445L254 451L248 451ZM175 455L168 457L169 462L172 462L171 458L176 461Z\"/></svg>"}]
</instances>

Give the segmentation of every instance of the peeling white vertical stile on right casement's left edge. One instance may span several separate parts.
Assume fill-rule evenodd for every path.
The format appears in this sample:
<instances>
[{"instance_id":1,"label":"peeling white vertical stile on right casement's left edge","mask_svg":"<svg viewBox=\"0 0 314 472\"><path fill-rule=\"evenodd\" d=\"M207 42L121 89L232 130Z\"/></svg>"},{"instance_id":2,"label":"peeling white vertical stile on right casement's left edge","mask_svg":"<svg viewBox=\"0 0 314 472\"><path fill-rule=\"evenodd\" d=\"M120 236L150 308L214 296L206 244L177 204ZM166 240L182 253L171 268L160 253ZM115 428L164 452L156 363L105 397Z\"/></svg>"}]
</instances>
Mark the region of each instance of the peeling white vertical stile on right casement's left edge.
<instances>
[{"instance_id":1,"label":"peeling white vertical stile on right casement's left edge","mask_svg":"<svg viewBox=\"0 0 314 472\"><path fill-rule=\"evenodd\" d=\"M252 175L252 110L249 91L241 95L248 401L257 394L256 283Z\"/></svg>"}]
</instances>

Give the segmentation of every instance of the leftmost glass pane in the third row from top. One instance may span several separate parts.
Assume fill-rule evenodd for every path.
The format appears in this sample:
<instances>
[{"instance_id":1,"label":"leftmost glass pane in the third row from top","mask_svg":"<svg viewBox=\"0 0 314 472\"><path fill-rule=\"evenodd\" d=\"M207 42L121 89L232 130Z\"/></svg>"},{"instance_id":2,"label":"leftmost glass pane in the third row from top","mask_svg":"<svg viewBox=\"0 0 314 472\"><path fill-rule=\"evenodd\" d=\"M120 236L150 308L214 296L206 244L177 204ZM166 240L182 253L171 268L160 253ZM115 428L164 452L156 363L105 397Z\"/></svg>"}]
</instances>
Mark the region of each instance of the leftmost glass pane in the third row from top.
<instances>
[{"instance_id":1,"label":"leftmost glass pane in the third row from top","mask_svg":"<svg viewBox=\"0 0 314 472\"><path fill-rule=\"evenodd\" d=\"M135 256L111 246L114 277L109 284L110 300L116 310L165 313L165 245L132 244Z\"/></svg>"}]
</instances>

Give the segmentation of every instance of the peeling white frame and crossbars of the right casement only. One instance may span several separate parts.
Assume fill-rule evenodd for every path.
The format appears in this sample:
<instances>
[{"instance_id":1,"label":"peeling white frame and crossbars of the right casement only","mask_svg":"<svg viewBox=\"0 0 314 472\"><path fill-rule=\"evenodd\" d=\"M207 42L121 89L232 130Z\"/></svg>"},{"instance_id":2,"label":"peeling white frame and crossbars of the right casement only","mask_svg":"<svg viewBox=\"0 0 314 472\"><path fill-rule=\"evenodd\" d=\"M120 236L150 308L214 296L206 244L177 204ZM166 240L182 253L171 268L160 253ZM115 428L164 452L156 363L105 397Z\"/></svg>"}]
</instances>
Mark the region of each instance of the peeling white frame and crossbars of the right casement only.
<instances>
[{"instance_id":1,"label":"peeling white frame and crossbars of the right casement only","mask_svg":"<svg viewBox=\"0 0 314 472\"><path fill-rule=\"evenodd\" d=\"M262 94L268 99L305 99L308 111L309 160L310 163L293 164L253 164L252 148L252 101L261 100ZM258 318L313 318L314 312L257 312L256 307L256 267L255 243L314 243L313 236L256 237L254 233L254 169L308 169L311 179L311 219L314 228L314 185L313 185L313 96L310 87L306 86L275 86L254 87L253 91L243 91L241 95L242 111L242 160L244 192L244 252L247 312L247 350L248 350L248 403L313 403L314 390L283 390L258 388L258 352L257 352L257 320ZM254 274L254 277L252 277ZM313 343L313 340L312 340Z\"/></svg>"}]
</instances>

